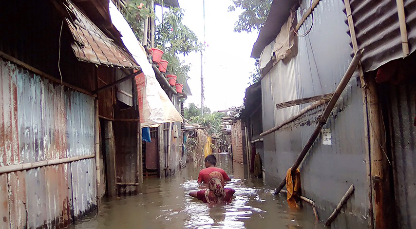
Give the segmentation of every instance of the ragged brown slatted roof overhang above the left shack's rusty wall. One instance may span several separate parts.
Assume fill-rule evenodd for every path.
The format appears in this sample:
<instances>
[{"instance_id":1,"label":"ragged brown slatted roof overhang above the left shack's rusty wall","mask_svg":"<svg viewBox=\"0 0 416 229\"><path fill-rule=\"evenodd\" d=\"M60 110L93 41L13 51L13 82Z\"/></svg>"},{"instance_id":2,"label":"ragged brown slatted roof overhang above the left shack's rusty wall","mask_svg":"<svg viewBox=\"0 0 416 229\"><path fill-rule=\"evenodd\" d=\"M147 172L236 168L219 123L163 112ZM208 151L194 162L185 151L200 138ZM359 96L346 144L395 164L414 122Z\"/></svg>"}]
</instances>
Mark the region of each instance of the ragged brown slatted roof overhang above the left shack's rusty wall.
<instances>
[{"instance_id":1,"label":"ragged brown slatted roof overhang above the left shack's rusty wall","mask_svg":"<svg viewBox=\"0 0 416 229\"><path fill-rule=\"evenodd\" d=\"M81 61L100 65L139 68L131 55L107 37L70 0L65 1L69 17L65 18L75 41L72 49Z\"/></svg>"}]
</instances>

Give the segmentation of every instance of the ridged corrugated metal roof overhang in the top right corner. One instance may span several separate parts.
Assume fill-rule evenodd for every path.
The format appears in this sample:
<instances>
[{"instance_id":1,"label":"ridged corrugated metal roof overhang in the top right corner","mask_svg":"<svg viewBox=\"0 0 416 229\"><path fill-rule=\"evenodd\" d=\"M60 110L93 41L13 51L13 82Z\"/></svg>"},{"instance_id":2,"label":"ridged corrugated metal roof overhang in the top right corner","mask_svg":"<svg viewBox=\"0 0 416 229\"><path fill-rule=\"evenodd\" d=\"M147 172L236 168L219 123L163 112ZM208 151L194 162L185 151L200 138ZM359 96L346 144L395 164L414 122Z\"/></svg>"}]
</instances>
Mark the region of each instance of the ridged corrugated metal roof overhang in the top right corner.
<instances>
[{"instance_id":1,"label":"ridged corrugated metal roof overhang in the top right corner","mask_svg":"<svg viewBox=\"0 0 416 229\"><path fill-rule=\"evenodd\" d=\"M351 0L350 4L358 45L365 49L361 59L363 70L372 71L403 57L396 1ZM404 7L412 53L416 49L416 0L404 0Z\"/></svg>"}]
</instances>

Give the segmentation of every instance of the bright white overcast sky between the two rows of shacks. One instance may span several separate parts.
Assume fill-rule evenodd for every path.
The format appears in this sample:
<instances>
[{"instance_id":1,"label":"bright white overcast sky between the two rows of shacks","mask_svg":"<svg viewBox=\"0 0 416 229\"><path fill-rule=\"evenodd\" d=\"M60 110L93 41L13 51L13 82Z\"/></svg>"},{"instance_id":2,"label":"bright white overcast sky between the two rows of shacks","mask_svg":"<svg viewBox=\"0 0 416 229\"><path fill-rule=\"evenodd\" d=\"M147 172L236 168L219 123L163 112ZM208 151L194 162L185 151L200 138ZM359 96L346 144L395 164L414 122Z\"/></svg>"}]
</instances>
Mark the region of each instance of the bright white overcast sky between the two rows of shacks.
<instances>
[{"instance_id":1,"label":"bright white overcast sky between the two rows of shacks","mask_svg":"<svg viewBox=\"0 0 416 229\"><path fill-rule=\"evenodd\" d=\"M183 23L204 40L203 1L179 0L185 10ZM251 49L258 33L235 33L234 23L239 12L228 12L231 0L206 0L206 44L204 66L204 105L211 111L223 110L243 104L250 72L254 69ZM158 11L156 9L156 11ZM159 11L160 12L160 11ZM156 12L157 13L157 12ZM188 81L192 95L185 106L193 102L201 106L201 56L192 53L183 58L191 64Z\"/></svg>"}]
</instances>

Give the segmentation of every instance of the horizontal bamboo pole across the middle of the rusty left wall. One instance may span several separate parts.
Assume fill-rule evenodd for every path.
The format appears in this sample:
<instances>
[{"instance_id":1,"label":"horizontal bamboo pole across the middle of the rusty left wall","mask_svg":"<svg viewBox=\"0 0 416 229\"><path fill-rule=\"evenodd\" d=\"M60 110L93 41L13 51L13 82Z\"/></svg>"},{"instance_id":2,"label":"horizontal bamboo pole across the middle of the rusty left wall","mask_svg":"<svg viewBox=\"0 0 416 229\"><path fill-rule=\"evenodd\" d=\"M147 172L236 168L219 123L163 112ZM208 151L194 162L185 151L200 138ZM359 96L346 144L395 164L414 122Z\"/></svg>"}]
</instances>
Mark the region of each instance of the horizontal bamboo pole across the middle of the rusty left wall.
<instances>
[{"instance_id":1,"label":"horizontal bamboo pole across the middle of the rusty left wall","mask_svg":"<svg viewBox=\"0 0 416 229\"><path fill-rule=\"evenodd\" d=\"M89 159L89 158L93 158L93 157L95 157L95 154L82 155L82 156L73 156L73 157L67 157L67 158L61 158L61 159L37 161L37 162L24 163L24 164L18 164L18 165L1 166L0 167L0 174L7 173L7 172L17 172L17 171L23 171L23 170L30 170L30 169L35 169L35 168L38 168L38 167L43 167L43 166L59 165L59 164L73 162L73 161Z\"/></svg>"}]
</instances>

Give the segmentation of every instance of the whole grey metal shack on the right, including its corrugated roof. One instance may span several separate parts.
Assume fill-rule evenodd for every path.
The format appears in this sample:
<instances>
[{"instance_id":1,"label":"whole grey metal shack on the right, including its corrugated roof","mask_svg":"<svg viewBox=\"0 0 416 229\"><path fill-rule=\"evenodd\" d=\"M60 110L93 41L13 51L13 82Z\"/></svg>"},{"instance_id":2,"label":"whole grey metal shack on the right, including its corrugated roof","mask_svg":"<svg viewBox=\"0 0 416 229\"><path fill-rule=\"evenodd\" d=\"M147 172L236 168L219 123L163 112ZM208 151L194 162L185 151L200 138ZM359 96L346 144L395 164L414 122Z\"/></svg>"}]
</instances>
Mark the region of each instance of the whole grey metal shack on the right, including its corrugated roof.
<instances>
[{"instance_id":1,"label":"whole grey metal shack on the right, including its corrugated roof","mask_svg":"<svg viewBox=\"0 0 416 229\"><path fill-rule=\"evenodd\" d=\"M415 0L274 0L252 50L266 183L300 164L321 220L355 187L333 228L415 228L415 49Z\"/></svg>"}]
</instances>

